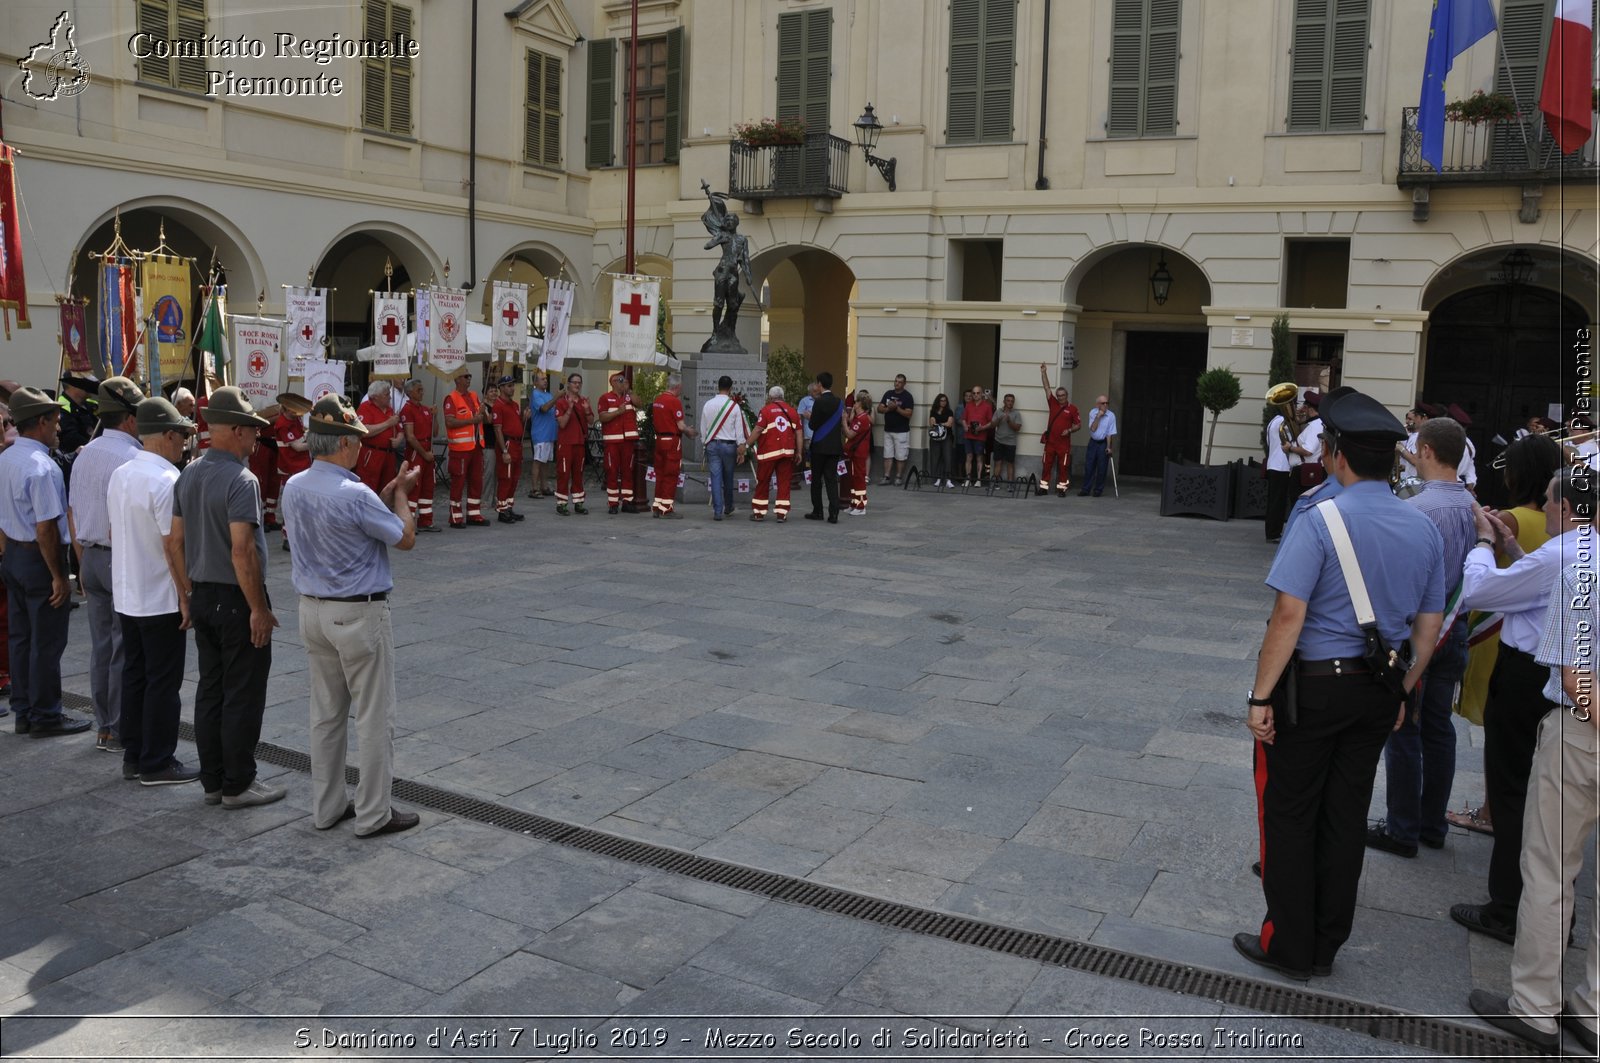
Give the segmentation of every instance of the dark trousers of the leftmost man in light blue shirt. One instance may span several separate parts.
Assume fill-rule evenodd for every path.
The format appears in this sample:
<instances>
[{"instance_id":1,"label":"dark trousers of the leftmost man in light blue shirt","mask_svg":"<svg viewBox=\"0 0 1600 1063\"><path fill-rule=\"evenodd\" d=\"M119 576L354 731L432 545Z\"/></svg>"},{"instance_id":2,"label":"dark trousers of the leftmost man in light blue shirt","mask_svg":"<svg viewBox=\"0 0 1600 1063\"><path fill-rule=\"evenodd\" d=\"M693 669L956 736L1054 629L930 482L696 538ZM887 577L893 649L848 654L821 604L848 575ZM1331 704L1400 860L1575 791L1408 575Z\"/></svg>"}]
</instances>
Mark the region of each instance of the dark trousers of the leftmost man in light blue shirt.
<instances>
[{"instance_id":1,"label":"dark trousers of the leftmost man in light blue shirt","mask_svg":"<svg viewBox=\"0 0 1600 1063\"><path fill-rule=\"evenodd\" d=\"M61 570L67 570L66 559ZM13 540L0 556L11 623L11 709L34 724L61 716L61 655L67 650L67 605L50 604L50 565L34 543Z\"/></svg>"}]
</instances>

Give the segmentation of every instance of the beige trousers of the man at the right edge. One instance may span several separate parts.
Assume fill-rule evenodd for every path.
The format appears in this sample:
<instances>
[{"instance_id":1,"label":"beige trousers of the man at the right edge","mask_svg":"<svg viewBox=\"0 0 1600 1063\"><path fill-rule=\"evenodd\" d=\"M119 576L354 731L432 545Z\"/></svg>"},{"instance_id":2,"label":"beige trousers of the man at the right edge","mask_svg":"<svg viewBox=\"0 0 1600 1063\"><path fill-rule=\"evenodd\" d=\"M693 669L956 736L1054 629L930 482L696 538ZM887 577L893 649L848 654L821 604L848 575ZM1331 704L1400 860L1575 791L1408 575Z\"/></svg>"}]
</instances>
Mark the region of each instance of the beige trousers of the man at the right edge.
<instances>
[{"instance_id":1,"label":"beige trousers of the man at the right edge","mask_svg":"<svg viewBox=\"0 0 1600 1063\"><path fill-rule=\"evenodd\" d=\"M1562 1013L1562 959L1573 919L1573 877L1582 871L1584 847L1600 805L1600 732L1573 719L1566 708L1539 722L1539 744L1528 778L1528 810L1522 821L1522 903L1517 948L1510 959L1510 1013L1534 1029L1555 1033ZM1595 1029L1600 1005L1600 919L1584 981L1566 1001Z\"/></svg>"}]
</instances>

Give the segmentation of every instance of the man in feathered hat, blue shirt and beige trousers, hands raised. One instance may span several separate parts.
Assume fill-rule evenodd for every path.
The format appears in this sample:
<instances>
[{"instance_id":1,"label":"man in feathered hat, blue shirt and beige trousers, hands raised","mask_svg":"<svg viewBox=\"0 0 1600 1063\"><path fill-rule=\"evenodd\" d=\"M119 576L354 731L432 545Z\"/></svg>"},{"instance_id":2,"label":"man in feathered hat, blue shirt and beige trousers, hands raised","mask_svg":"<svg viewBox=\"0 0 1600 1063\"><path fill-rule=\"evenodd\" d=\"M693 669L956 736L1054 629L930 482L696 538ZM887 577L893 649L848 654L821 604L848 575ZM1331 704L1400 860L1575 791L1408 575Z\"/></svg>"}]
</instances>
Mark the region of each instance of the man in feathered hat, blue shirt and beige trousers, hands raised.
<instances>
[{"instance_id":1,"label":"man in feathered hat, blue shirt and beige trousers, hands raised","mask_svg":"<svg viewBox=\"0 0 1600 1063\"><path fill-rule=\"evenodd\" d=\"M355 820L357 837L418 824L414 812L389 804L394 780L394 631L389 624L389 548L416 543L406 467L382 495L357 479L366 426L344 395L325 395L310 411L312 463L283 485L283 525L301 594L299 626L310 664L310 786L318 831ZM344 791L349 717L355 717L362 781Z\"/></svg>"}]
</instances>

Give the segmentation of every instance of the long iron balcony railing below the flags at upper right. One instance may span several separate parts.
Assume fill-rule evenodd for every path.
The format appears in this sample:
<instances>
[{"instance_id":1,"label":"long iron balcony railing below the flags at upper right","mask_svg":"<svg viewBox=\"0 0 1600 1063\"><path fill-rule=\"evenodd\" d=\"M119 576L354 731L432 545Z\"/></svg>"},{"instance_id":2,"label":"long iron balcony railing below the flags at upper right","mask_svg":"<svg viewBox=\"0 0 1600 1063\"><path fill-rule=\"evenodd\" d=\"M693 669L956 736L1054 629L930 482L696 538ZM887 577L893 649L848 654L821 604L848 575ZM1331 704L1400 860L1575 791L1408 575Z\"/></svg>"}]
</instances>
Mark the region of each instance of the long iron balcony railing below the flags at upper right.
<instances>
[{"instance_id":1,"label":"long iron balcony railing below the flags at upper right","mask_svg":"<svg viewBox=\"0 0 1600 1063\"><path fill-rule=\"evenodd\" d=\"M1402 110L1400 187L1416 184L1522 184L1558 178L1600 176L1595 162L1595 134L1566 155L1544 128L1544 115L1501 118L1498 122L1445 122L1443 166L1435 171L1422 162L1422 133L1416 128L1416 107Z\"/></svg>"}]
</instances>

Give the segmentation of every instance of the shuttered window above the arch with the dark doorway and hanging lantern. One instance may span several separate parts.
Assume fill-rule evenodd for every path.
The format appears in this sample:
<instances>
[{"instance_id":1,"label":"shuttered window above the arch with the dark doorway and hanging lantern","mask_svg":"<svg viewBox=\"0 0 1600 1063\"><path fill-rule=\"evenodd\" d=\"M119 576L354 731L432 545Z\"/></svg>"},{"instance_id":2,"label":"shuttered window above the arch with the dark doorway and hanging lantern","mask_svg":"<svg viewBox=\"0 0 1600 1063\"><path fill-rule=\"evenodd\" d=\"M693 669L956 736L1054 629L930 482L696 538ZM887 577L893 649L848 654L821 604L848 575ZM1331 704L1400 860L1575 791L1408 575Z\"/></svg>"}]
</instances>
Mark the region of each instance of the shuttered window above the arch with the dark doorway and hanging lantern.
<instances>
[{"instance_id":1,"label":"shuttered window above the arch with the dark doorway and hanging lantern","mask_svg":"<svg viewBox=\"0 0 1600 1063\"><path fill-rule=\"evenodd\" d=\"M1182 0L1115 0L1107 136L1178 131L1178 30Z\"/></svg>"}]
</instances>

